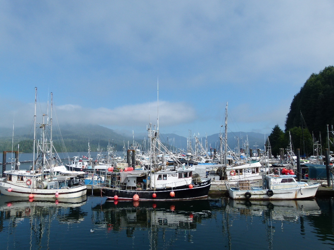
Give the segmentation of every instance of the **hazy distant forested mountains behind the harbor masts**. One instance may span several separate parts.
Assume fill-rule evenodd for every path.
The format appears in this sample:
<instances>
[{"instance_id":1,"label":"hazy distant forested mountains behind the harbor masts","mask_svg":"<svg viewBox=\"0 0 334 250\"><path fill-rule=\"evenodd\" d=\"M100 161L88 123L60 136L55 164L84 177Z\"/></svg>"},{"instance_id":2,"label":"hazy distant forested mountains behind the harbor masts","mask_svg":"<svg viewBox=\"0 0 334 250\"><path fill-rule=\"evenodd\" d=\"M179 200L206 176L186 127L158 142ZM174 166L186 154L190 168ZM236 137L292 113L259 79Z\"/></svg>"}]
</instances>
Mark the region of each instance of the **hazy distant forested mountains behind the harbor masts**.
<instances>
[{"instance_id":1,"label":"hazy distant forested mountains behind the harbor masts","mask_svg":"<svg viewBox=\"0 0 334 250\"><path fill-rule=\"evenodd\" d=\"M36 129L37 130L37 129ZM38 130L37 130L38 131ZM61 133L60 133L61 132ZM98 147L107 149L109 140L111 145L116 145L116 150L122 151L123 146L131 146L133 141L142 147L148 147L148 138L144 140L143 135L132 136L116 133L114 130L99 125L63 125L59 129L53 127L53 142L58 152L87 152L88 141L91 150L97 151ZM37 133L38 134L38 133ZM249 146L255 148L264 148L265 135L255 132L229 132L227 133L227 144L233 150L237 147L236 136L239 137L239 147L246 140L248 135ZM38 140L38 136L36 137ZM15 128L14 129L14 149L20 144L20 151L32 152L33 128ZM160 134L160 140L170 149L175 148L186 149L187 138L176 134ZM192 145L194 138L192 137ZM219 149L219 134L207 136L208 148ZM63 141L63 143L61 142ZM205 147L205 137L200 137L199 141ZM63 146L65 145L65 147ZM0 151L11 150L12 148L12 129L0 128Z\"/></svg>"}]
</instances>

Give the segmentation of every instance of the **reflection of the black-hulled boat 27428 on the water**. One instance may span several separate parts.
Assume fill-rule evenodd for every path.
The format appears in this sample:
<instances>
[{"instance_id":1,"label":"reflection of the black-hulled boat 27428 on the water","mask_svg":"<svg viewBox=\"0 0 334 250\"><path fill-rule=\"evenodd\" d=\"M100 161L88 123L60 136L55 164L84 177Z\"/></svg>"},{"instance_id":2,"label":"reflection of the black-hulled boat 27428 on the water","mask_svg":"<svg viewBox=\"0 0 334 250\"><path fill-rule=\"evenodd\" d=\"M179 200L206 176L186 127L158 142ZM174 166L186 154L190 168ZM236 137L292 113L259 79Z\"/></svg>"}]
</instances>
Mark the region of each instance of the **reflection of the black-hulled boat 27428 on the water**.
<instances>
[{"instance_id":1,"label":"reflection of the black-hulled boat 27428 on the water","mask_svg":"<svg viewBox=\"0 0 334 250\"><path fill-rule=\"evenodd\" d=\"M110 201L93 208L94 224L101 229L121 231L132 237L135 228L196 229L211 218L207 199L189 201Z\"/></svg>"}]
</instances>

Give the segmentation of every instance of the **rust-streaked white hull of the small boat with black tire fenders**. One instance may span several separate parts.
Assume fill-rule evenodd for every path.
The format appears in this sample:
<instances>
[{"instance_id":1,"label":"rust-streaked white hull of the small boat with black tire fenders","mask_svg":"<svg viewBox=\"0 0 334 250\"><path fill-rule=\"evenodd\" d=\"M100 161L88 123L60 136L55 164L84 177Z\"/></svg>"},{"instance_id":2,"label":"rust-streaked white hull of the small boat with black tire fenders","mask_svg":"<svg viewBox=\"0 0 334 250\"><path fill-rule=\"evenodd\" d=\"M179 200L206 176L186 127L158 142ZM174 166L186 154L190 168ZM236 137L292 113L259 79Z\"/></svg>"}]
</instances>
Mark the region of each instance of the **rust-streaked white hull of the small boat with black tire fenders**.
<instances>
[{"instance_id":1,"label":"rust-streaked white hull of the small boat with black tire fenders","mask_svg":"<svg viewBox=\"0 0 334 250\"><path fill-rule=\"evenodd\" d=\"M288 200L288 199L305 199L314 197L320 183L283 189L272 189L273 196L268 196L268 189L259 190L233 190L230 188L228 194L236 200ZM250 193L251 197L246 198L245 194Z\"/></svg>"}]
</instances>

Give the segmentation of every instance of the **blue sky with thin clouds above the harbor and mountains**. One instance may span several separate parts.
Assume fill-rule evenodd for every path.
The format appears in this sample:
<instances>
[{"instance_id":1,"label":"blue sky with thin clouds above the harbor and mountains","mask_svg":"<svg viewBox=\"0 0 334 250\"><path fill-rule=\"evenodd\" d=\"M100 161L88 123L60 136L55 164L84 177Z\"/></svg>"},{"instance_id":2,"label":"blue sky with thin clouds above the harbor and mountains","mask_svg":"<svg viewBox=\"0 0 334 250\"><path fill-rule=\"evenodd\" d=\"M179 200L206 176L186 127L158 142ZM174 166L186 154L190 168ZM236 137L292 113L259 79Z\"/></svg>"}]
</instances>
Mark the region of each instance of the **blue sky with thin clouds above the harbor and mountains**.
<instances>
[{"instance_id":1,"label":"blue sky with thin clouds above the harbor and mountains","mask_svg":"<svg viewBox=\"0 0 334 250\"><path fill-rule=\"evenodd\" d=\"M270 133L333 65L333 1L0 1L0 127ZM158 105L159 90L159 105Z\"/></svg>"}]
</instances>

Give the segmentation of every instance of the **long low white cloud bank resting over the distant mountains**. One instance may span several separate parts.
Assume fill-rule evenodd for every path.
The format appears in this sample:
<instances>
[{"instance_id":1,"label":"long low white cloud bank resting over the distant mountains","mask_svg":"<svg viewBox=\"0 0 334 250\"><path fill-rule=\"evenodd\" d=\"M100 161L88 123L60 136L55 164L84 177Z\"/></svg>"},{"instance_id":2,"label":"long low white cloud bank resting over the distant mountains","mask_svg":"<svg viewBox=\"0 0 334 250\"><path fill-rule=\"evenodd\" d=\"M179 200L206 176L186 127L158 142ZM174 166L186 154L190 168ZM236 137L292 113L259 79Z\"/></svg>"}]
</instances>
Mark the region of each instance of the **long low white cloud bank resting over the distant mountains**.
<instances>
[{"instance_id":1,"label":"long low white cloud bank resting over the distant mountains","mask_svg":"<svg viewBox=\"0 0 334 250\"><path fill-rule=\"evenodd\" d=\"M3 100L2 102L7 103L10 110L3 109L0 111L0 117L4 117L4 119L1 119L0 121L1 126L10 127L12 125L13 116L11 116L11 114L15 114L16 126L28 126L31 123L34 113L33 104L10 102L8 100ZM87 108L80 105L64 104L54 106L53 122L57 119L60 124L84 123L99 124L108 127L142 126L144 129L146 128L146 125L149 124L149 119L152 124L157 124L157 108L157 102L126 105L113 109L105 107ZM45 114L47 113L46 103L37 105L37 122L41 122L41 114L43 112ZM161 126L173 126L188 123L194 119L196 119L195 111L193 107L186 103L172 103L168 101L159 102L159 125Z\"/></svg>"}]
</instances>

